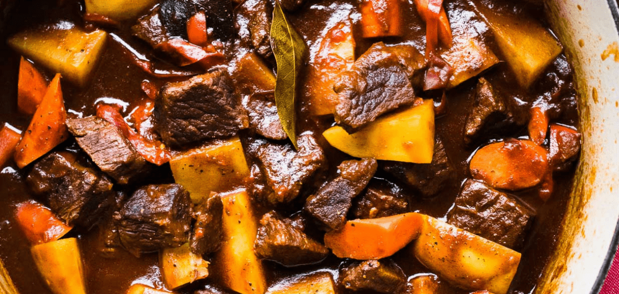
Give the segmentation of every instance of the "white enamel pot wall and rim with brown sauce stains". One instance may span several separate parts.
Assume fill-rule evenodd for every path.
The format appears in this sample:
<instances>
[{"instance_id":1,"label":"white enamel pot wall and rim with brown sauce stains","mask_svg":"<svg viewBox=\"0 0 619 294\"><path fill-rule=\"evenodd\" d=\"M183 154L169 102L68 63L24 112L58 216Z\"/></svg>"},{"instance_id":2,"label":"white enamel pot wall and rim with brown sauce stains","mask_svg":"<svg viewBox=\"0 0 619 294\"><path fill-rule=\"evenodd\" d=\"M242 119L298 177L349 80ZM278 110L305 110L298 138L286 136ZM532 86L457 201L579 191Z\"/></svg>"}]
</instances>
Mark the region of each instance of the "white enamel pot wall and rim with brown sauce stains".
<instances>
[{"instance_id":1,"label":"white enamel pot wall and rim with brown sauce stains","mask_svg":"<svg viewBox=\"0 0 619 294\"><path fill-rule=\"evenodd\" d=\"M582 152L563 231L535 293L596 294L619 244L619 8L616 0L547 0L545 8L574 66Z\"/></svg>"}]
</instances>

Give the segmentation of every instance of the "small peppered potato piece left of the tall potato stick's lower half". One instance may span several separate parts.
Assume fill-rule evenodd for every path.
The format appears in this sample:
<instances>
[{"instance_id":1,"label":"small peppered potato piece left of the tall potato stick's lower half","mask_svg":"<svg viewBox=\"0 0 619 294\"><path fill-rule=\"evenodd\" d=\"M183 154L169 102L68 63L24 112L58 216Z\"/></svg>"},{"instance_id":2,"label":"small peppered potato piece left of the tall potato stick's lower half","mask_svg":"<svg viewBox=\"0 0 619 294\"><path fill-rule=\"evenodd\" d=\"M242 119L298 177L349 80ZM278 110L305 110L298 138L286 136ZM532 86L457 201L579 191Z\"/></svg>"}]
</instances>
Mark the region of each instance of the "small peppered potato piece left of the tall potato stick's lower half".
<instances>
[{"instance_id":1,"label":"small peppered potato piece left of the tall potato stick's lower half","mask_svg":"<svg viewBox=\"0 0 619 294\"><path fill-rule=\"evenodd\" d=\"M209 276L209 262L192 253L189 243L163 249L159 254L159 265L165 287L170 289Z\"/></svg>"}]
</instances>

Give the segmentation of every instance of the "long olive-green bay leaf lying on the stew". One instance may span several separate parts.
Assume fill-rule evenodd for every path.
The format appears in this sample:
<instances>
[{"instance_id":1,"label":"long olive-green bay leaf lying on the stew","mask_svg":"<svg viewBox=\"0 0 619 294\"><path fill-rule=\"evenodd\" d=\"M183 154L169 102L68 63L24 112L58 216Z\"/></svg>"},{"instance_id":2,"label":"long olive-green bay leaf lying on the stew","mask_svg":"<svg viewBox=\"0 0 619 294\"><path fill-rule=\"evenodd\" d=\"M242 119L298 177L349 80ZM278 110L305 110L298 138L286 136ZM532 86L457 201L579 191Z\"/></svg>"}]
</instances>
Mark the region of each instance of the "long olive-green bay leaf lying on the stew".
<instances>
[{"instance_id":1,"label":"long olive-green bay leaf lying on the stew","mask_svg":"<svg viewBox=\"0 0 619 294\"><path fill-rule=\"evenodd\" d=\"M290 24L279 1L275 1L271 23L271 49L277 63L275 105L284 131L297 148L296 102L299 71L308 54L303 38Z\"/></svg>"}]
</instances>

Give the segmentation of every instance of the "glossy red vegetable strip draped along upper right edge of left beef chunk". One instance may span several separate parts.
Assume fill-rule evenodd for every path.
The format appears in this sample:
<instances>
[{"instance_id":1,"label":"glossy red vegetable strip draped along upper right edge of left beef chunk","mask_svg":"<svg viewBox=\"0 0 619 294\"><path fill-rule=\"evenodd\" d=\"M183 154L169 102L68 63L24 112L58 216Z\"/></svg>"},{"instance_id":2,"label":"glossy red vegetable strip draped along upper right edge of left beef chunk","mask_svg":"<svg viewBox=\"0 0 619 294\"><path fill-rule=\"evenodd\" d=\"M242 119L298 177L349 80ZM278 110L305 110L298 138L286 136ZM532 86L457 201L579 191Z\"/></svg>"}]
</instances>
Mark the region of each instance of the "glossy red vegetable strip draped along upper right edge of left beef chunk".
<instances>
[{"instance_id":1,"label":"glossy red vegetable strip draped along upper right edge of left beef chunk","mask_svg":"<svg viewBox=\"0 0 619 294\"><path fill-rule=\"evenodd\" d=\"M116 128L123 133L123 136L136 147L137 153L140 153L145 160L155 163L156 165L162 165L170 161L170 152L163 147L163 144L149 141L142 135L137 134L137 132L124 121L123 116L117 108L110 105L99 105L97 107L97 116L115 125Z\"/></svg>"}]
</instances>

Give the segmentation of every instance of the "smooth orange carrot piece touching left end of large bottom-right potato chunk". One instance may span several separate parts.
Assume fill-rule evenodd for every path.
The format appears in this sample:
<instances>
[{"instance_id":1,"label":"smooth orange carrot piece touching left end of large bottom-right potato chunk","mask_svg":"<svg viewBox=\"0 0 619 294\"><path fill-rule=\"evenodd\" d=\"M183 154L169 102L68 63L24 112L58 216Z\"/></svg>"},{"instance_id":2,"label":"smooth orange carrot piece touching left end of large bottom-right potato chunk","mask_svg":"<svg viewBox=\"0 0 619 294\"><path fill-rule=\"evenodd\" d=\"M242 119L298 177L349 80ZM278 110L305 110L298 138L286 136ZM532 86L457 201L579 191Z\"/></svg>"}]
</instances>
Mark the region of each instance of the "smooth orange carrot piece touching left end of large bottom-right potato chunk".
<instances>
[{"instance_id":1,"label":"smooth orange carrot piece touching left end of large bottom-right potato chunk","mask_svg":"<svg viewBox=\"0 0 619 294\"><path fill-rule=\"evenodd\" d=\"M349 220L341 230L326 233L324 244L340 258L381 259L393 255L417 238L423 222L425 216L415 212Z\"/></svg>"}]
</instances>

